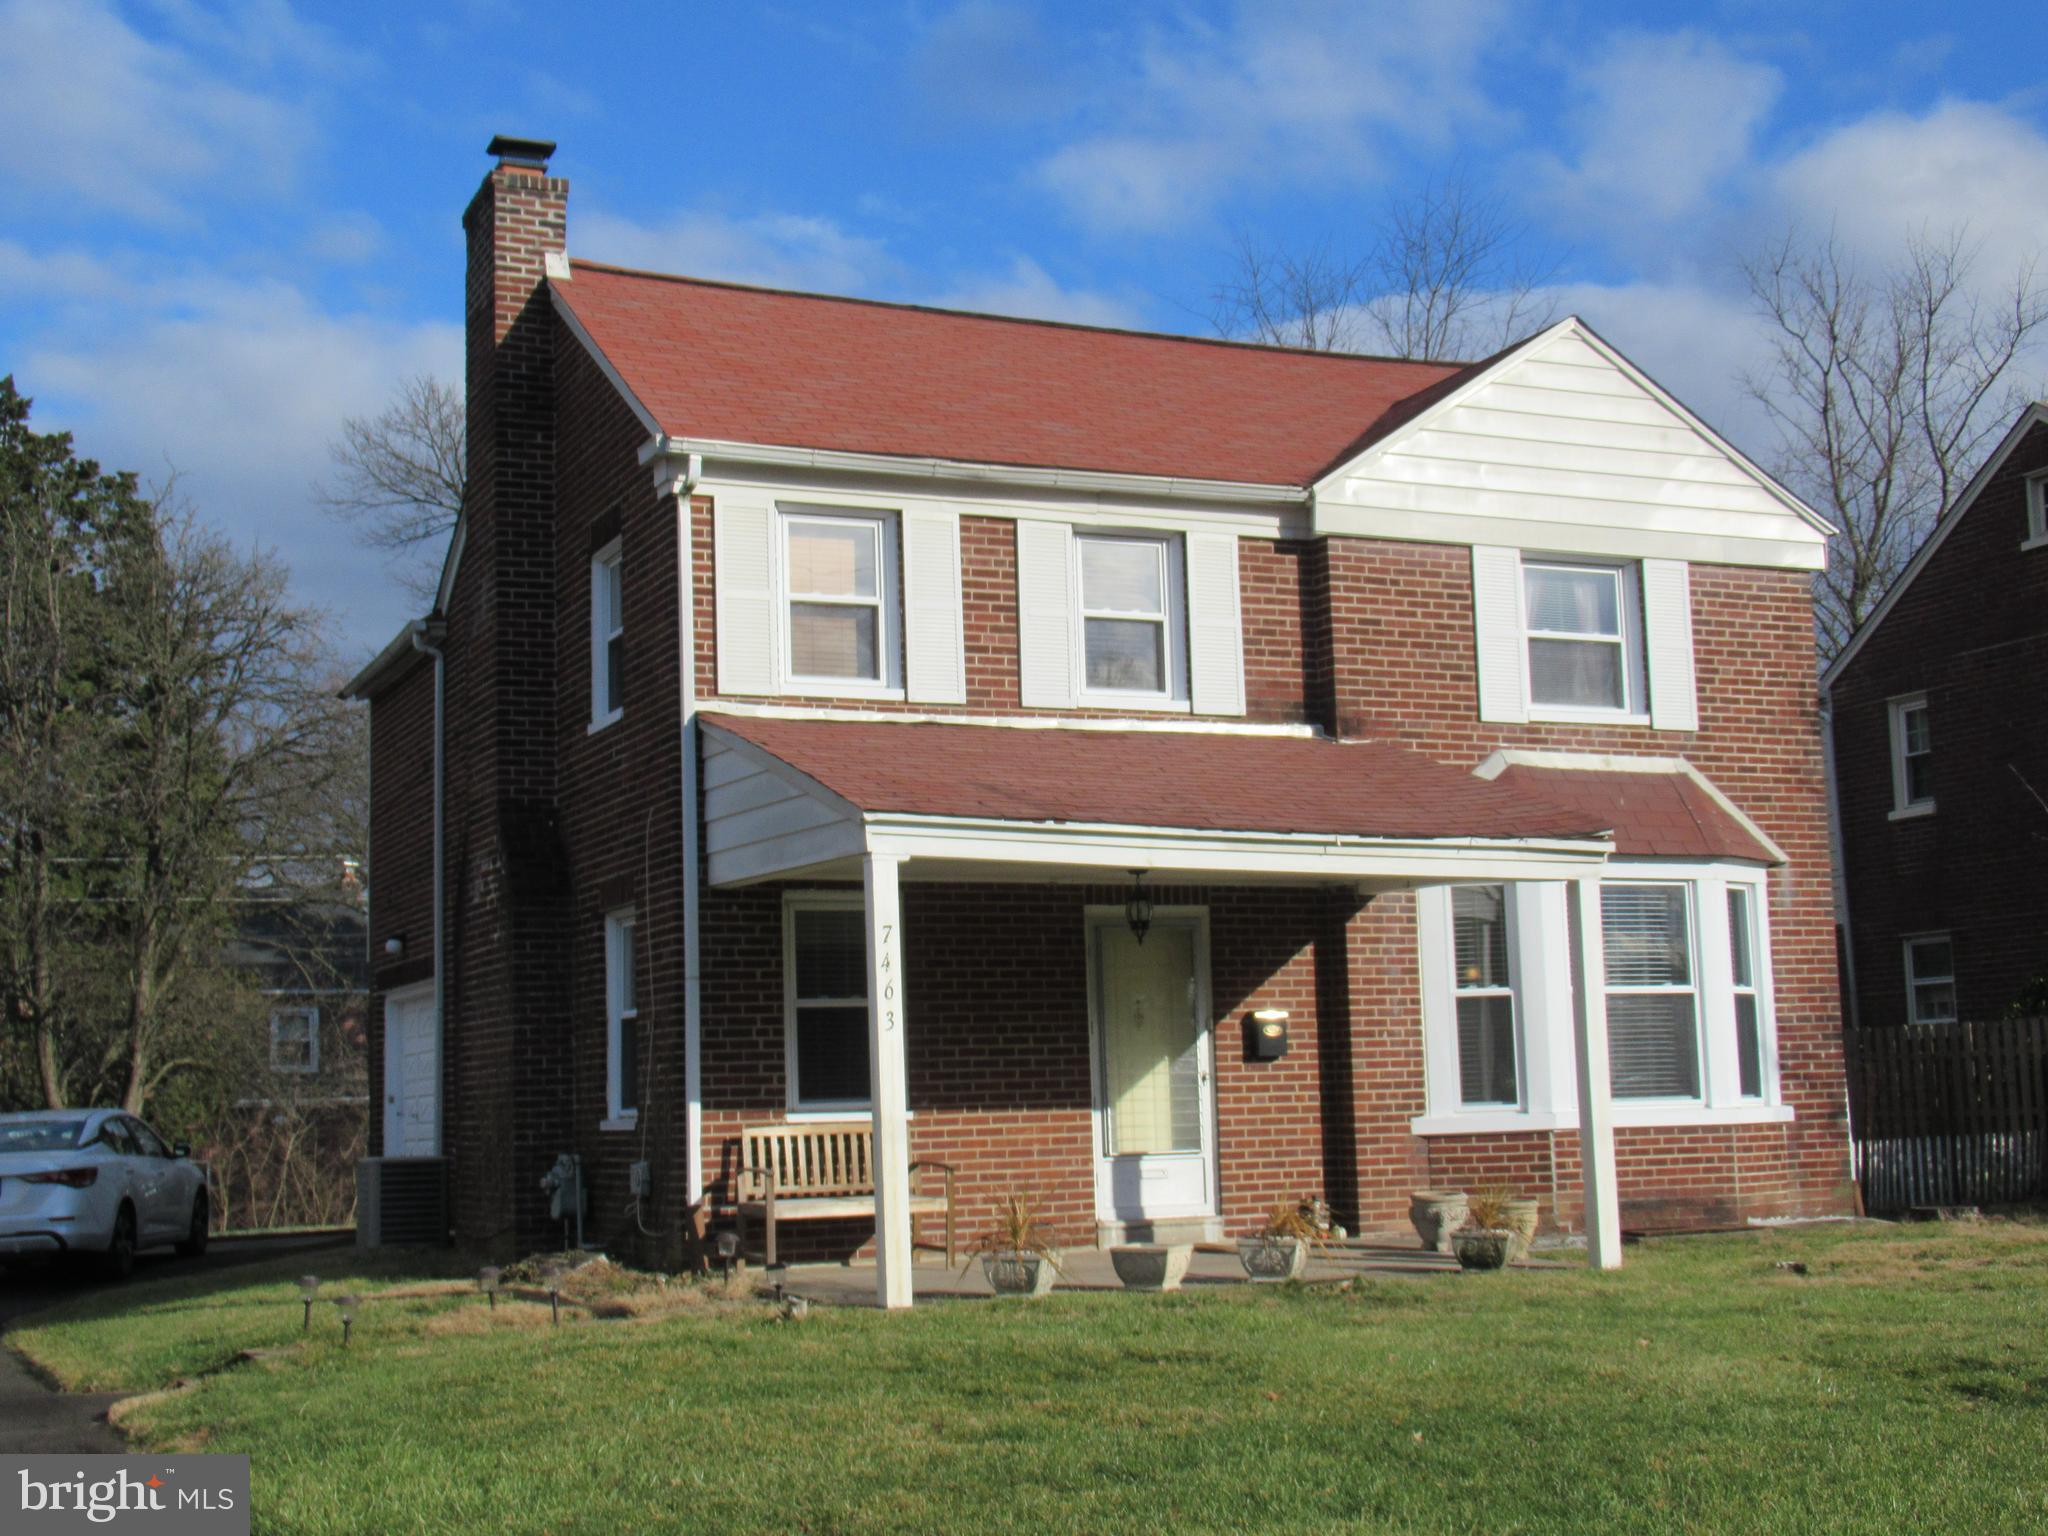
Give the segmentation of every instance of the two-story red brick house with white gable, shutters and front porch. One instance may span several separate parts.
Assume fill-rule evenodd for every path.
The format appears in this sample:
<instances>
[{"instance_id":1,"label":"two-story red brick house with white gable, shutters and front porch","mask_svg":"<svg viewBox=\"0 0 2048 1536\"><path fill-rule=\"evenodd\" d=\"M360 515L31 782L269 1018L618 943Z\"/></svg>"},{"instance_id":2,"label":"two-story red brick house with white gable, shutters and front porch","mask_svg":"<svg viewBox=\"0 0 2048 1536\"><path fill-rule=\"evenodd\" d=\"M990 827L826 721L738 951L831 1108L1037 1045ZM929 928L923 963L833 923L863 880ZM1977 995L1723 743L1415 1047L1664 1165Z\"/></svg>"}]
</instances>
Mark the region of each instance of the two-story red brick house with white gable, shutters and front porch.
<instances>
[{"instance_id":1,"label":"two-story red brick house with white gable, shutters and front porch","mask_svg":"<svg viewBox=\"0 0 2048 1536\"><path fill-rule=\"evenodd\" d=\"M907 1149L969 1231L1028 1188L1098 1241L1507 1182L1612 1264L1849 1206L1825 524L1606 342L627 272L551 150L465 217L471 500L350 684L375 1151L449 1159L459 1239L547 1241L571 1151L670 1260L743 1126L848 1114L885 1212L811 1237L893 1303Z\"/></svg>"}]
</instances>

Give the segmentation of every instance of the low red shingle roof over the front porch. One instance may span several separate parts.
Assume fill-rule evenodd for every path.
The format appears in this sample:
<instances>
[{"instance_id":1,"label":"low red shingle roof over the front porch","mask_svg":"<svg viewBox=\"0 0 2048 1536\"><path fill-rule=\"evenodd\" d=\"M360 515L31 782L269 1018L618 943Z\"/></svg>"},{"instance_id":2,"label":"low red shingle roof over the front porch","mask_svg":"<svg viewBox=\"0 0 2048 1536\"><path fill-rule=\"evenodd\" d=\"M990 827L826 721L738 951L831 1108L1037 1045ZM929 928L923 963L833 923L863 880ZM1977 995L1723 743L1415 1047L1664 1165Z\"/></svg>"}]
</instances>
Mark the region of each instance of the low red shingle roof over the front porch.
<instances>
[{"instance_id":1,"label":"low red shingle roof over the front porch","mask_svg":"<svg viewBox=\"0 0 2048 1536\"><path fill-rule=\"evenodd\" d=\"M705 715L862 811L1337 838L1597 838L1604 813L1380 741Z\"/></svg>"}]
</instances>

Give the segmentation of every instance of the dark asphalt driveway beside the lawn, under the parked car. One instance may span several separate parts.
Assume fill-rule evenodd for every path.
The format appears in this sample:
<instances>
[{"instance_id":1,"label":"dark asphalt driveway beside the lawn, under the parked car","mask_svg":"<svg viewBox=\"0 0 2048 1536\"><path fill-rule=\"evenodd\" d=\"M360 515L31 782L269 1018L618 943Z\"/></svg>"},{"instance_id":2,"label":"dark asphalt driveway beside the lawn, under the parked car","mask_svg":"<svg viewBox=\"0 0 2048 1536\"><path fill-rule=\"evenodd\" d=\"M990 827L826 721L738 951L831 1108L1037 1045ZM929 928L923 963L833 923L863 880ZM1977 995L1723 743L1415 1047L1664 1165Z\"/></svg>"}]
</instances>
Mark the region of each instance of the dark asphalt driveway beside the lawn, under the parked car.
<instances>
[{"instance_id":1,"label":"dark asphalt driveway beside the lawn, under the parked car","mask_svg":"<svg viewBox=\"0 0 2048 1536\"><path fill-rule=\"evenodd\" d=\"M176 1274L229 1270L238 1264L274 1260L307 1247L334 1247L350 1241L334 1233L291 1233L283 1237L215 1239L203 1257L180 1260L174 1253L143 1253L135 1274L121 1282L98 1280L90 1272L61 1264L25 1266L0 1274L0 1333L18 1317L53 1307L86 1288L147 1290L154 1280ZM106 1423L106 1409L127 1393L59 1393L0 1337L0 1452L123 1452L127 1442Z\"/></svg>"}]
</instances>

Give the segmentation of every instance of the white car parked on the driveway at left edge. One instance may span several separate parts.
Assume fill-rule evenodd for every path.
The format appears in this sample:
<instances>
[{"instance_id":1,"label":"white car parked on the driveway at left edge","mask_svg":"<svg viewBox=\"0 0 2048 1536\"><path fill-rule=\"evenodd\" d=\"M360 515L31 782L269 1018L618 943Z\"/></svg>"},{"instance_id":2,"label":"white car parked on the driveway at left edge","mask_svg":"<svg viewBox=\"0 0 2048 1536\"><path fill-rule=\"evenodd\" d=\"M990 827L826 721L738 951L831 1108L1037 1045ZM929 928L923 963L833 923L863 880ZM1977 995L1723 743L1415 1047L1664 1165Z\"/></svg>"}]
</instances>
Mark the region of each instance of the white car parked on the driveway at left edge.
<instances>
[{"instance_id":1,"label":"white car parked on the driveway at left edge","mask_svg":"<svg viewBox=\"0 0 2048 1536\"><path fill-rule=\"evenodd\" d=\"M0 1260L96 1253L121 1278L145 1247L207 1251L207 1169L123 1110L0 1114Z\"/></svg>"}]
</instances>

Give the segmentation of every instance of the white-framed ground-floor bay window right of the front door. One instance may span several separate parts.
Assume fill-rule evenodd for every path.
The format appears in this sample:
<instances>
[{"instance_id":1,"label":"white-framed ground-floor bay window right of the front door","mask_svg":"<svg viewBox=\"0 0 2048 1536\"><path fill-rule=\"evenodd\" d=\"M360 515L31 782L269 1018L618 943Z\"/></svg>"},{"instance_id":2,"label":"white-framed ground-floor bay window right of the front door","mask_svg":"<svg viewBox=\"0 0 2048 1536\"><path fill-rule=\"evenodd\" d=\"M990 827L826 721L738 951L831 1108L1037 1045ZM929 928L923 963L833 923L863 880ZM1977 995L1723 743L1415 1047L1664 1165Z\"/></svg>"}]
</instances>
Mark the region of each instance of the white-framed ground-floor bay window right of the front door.
<instances>
[{"instance_id":1,"label":"white-framed ground-floor bay window right of the front door","mask_svg":"<svg viewBox=\"0 0 2048 1536\"><path fill-rule=\"evenodd\" d=\"M1565 889L1417 893L1417 1135L1577 1124ZM1616 1124L1792 1118L1778 1102L1763 870L1614 860L1602 881Z\"/></svg>"}]
</instances>

